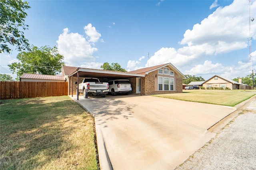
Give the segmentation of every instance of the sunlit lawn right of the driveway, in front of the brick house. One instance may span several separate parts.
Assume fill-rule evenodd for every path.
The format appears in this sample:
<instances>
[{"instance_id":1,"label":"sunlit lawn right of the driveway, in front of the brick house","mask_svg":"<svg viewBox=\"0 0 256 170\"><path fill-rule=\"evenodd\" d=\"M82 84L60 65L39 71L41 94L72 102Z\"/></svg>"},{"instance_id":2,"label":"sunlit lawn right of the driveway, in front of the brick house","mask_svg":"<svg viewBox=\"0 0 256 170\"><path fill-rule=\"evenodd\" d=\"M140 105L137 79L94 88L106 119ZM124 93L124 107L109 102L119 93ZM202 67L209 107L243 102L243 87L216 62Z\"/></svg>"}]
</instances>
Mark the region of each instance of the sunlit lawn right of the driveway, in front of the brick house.
<instances>
[{"instance_id":1,"label":"sunlit lawn right of the driveway, in front of the brick house","mask_svg":"<svg viewBox=\"0 0 256 170\"><path fill-rule=\"evenodd\" d=\"M236 90L184 90L183 93L158 94L152 96L184 100L188 102L236 106L244 100L251 98L255 94L255 91L244 92Z\"/></svg>"}]
</instances>

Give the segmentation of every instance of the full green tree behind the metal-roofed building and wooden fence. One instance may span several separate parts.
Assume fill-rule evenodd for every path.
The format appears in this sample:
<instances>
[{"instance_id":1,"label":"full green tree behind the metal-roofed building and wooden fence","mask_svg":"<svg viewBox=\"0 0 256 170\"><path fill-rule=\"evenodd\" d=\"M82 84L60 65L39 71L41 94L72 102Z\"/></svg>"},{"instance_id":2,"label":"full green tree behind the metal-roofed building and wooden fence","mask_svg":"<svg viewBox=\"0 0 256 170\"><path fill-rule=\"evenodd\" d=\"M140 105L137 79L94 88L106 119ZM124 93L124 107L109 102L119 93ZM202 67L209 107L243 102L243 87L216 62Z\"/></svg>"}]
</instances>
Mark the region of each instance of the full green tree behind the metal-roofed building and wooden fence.
<instances>
[{"instance_id":1,"label":"full green tree behind the metal-roofed building and wooden fence","mask_svg":"<svg viewBox=\"0 0 256 170\"><path fill-rule=\"evenodd\" d=\"M13 73L17 74L17 80L20 79L23 73L56 75L61 72L62 66L65 65L62 61L63 58L56 47L44 46L38 48L32 46L32 51L21 52L17 55L20 62L8 66Z\"/></svg>"}]
</instances>

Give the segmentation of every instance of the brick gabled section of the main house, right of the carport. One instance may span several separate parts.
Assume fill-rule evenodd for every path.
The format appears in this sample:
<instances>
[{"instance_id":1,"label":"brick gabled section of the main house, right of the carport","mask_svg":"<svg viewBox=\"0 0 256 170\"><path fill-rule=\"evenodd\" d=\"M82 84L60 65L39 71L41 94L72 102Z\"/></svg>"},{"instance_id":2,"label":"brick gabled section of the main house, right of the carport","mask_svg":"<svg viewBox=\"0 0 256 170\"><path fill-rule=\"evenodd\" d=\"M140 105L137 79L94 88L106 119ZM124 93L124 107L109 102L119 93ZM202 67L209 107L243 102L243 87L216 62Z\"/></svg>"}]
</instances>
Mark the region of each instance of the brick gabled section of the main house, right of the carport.
<instances>
[{"instance_id":1,"label":"brick gabled section of the main house, right of the carport","mask_svg":"<svg viewBox=\"0 0 256 170\"><path fill-rule=\"evenodd\" d=\"M182 80L186 78L171 63L142 68L128 73L145 75L141 78L141 89L139 89L142 95L182 93ZM130 82L132 81L130 80ZM137 82L140 81L136 81L136 86L138 85Z\"/></svg>"}]
</instances>

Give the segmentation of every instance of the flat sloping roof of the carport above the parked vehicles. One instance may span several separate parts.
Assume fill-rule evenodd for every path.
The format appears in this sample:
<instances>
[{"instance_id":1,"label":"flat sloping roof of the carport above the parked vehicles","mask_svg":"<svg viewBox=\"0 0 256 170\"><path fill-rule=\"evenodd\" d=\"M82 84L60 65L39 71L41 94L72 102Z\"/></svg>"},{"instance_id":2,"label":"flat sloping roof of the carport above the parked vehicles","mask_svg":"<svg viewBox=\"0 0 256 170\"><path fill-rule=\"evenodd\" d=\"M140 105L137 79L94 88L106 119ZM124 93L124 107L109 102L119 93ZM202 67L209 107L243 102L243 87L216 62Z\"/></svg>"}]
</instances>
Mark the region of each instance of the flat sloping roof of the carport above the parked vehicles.
<instances>
[{"instance_id":1,"label":"flat sloping roof of the carport above the parked vehicles","mask_svg":"<svg viewBox=\"0 0 256 170\"><path fill-rule=\"evenodd\" d=\"M100 70L94 68L80 68L77 67L69 76L77 76L79 72L79 77L96 77L96 78L132 78L132 77L145 77L142 74L134 74L128 72L118 72L110 70Z\"/></svg>"}]
</instances>

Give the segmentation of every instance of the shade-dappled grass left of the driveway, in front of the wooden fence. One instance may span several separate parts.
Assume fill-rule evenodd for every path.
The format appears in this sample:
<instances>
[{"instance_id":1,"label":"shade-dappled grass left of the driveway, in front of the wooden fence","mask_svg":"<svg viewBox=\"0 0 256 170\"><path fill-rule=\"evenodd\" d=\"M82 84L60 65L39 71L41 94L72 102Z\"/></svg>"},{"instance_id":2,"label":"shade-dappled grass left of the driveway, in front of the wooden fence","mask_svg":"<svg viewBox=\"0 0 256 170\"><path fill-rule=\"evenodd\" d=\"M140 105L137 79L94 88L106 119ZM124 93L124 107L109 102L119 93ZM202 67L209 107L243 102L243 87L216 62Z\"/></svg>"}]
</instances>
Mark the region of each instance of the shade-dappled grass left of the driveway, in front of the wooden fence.
<instances>
[{"instance_id":1,"label":"shade-dappled grass left of the driveway, in front of the wooden fence","mask_svg":"<svg viewBox=\"0 0 256 170\"><path fill-rule=\"evenodd\" d=\"M99 169L94 118L68 96L1 100L0 169Z\"/></svg>"}]
</instances>

